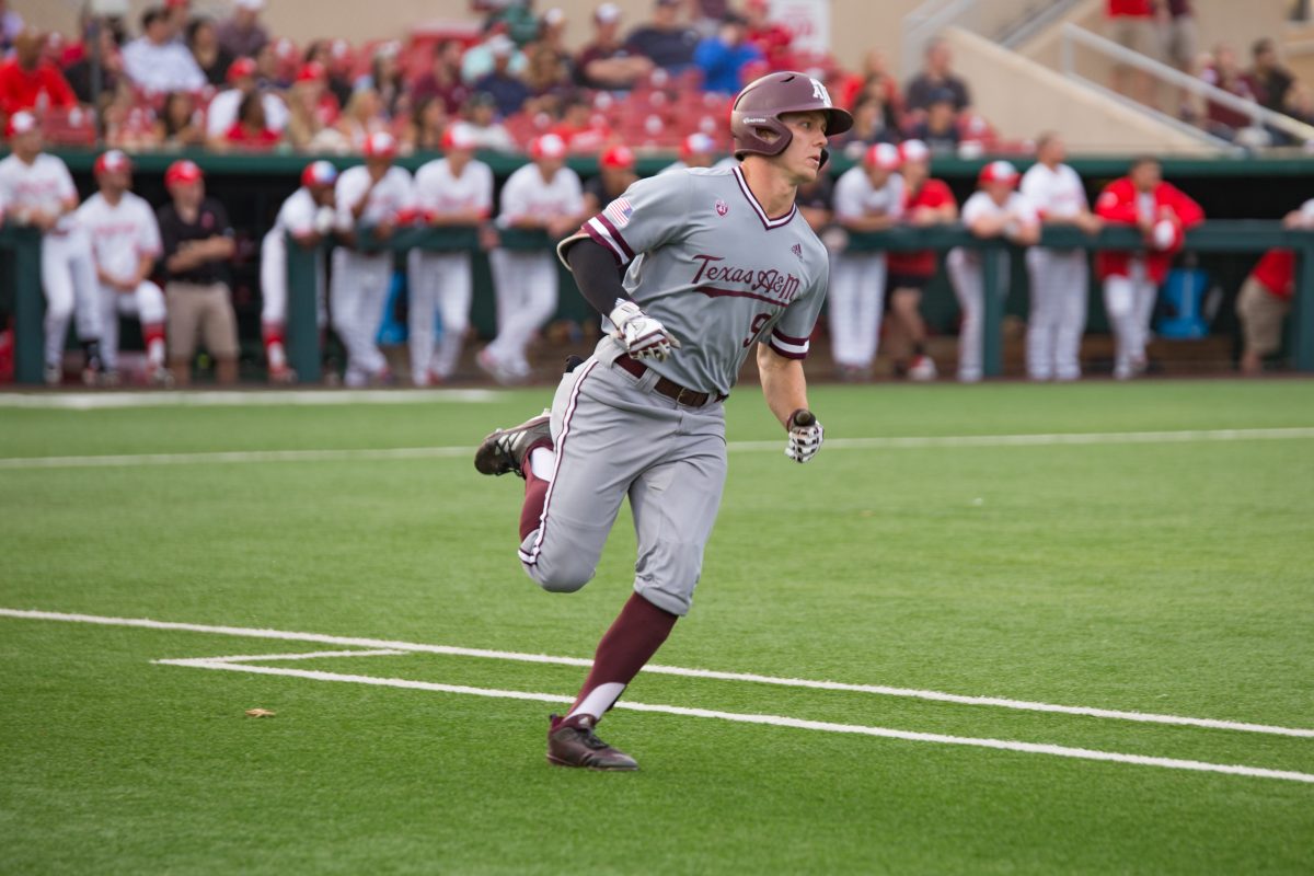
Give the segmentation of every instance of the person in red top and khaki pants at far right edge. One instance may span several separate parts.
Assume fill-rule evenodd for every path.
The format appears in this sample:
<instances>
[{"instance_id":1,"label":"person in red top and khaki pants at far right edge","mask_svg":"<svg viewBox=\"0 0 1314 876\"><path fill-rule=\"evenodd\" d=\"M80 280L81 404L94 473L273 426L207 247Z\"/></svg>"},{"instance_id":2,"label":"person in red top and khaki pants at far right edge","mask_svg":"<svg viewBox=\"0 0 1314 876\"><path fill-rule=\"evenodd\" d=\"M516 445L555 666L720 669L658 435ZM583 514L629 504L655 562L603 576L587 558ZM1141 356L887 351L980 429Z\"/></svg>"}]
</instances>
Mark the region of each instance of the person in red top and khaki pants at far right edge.
<instances>
[{"instance_id":1,"label":"person in red top and khaki pants at far right edge","mask_svg":"<svg viewBox=\"0 0 1314 876\"><path fill-rule=\"evenodd\" d=\"M1314 231L1314 198L1292 210L1282 221L1288 229ZM1282 320L1292 310L1296 294L1296 253L1269 250L1242 284L1236 297L1236 317L1242 328L1240 373L1264 370L1264 359L1282 345Z\"/></svg>"}]
</instances>

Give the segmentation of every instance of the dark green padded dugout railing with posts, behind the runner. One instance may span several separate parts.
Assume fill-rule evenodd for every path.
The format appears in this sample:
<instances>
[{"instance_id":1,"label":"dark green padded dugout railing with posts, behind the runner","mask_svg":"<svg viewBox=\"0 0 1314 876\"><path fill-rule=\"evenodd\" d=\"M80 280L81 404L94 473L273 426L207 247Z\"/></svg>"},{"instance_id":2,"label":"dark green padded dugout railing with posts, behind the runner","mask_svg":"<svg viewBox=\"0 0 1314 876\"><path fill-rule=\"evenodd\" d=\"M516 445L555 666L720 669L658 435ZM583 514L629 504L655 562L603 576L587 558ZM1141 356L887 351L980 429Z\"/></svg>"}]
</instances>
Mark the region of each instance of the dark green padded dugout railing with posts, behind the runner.
<instances>
[{"instance_id":1,"label":"dark green padded dugout railing with posts, behind the runner","mask_svg":"<svg viewBox=\"0 0 1314 876\"><path fill-rule=\"evenodd\" d=\"M541 232L505 230L501 246L509 250L549 250L553 242ZM1042 246L1081 250L1141 250L1141 234L1130 227L1106 227L1099 235L1087 235L1074 227L1046 227ZM371 242L367 248L413 248L431 251L480 251L480 234L474 227L403 229L388 242ZM999 286L1000 259L1012 257L1012 247L1000 240L971 235L961 225L932 229L895 229L874 234L850 235L854 251L934 250L943 253L954 247L972 247L983 255L984 373L997 377L1003 370L1004 296ZM1284 247L1297 253L1296 299L1292 314L1292 360L1296 370L1314 373L1314 232L1282 227L1281 222L1259 219L1212 221L1187 234L1187 248L1194 252L1260 253ZM41 238L30 229L0 230L0 248L9 253L14 328L14 382L42 382L42 314ZM288 359L302 381L318 382L322 377L321 332L315 301L317 252L289 242L288 244ZM564 290L564 294L570 294Z\"/></svg>"}]
</instances>

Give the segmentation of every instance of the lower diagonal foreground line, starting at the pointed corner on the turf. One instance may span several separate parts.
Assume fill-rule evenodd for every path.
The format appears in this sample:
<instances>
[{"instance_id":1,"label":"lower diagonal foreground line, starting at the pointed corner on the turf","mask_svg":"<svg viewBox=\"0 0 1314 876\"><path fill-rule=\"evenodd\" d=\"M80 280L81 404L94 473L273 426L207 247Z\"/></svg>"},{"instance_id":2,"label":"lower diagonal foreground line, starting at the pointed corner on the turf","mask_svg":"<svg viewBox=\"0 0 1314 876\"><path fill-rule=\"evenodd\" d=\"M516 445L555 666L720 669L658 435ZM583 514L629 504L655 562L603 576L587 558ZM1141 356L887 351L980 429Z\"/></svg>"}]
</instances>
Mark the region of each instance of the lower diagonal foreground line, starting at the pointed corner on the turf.
<instances>
[{"instance_id":1,"label":"lower diagonal foreground line, starting at the pointed corner on the turf","mask_svg":"<svg viewBox=\"0 0 1314 876\"><path fill-rule=\"evenodd\" d=\"M374 651L377 653L377 651ZM305 657L326 657L330 653L309 654ZM365 651L357 651L356 657L365 657ZM273 655L277 659L296 659L294 655ZM261 659L259 657L246 659ZM271 658L264 658L271 659ZM374 675L350 675L343 672L321 672L315 670L296 670L276 666L248 666L234 662L234 658L183 658L152 661L163 666L185 666L191 668L226 670L230 672L250 672L255 675L283 675L289 678L302 678L315 682L347 682L352 684L369 684L374 687L396 687L411 691L432 691L439 693L460 693L468 696L485 696L502 700L528 700L535 703L572 703L572 696L558 693L537 693L531 691L501 691L495 688L466 687L464 684L442 684L438 682L418 682L403 678L380 678ZM958 745L978 749L993 749L997 751L1017 751L1022 754L1047 754L1059 758L1072 758L1077 760L1101 760L1106 763L1131 763L1144 767L1160 767L1166 770L1188 770L1192 772L1215 772L1234 776L1248 776L1252 779L1279 779L1285 781L1301 781L1314 784L1314 775L1307 772L1294 772L1290 770L1269 770L1265 767L1250 767L1233 763L1209 763L1205 760L1184 760L1179 758L1159 758L1143 754L1122 754L1118 751L1099 751L1093 749L1076 749L1062 745L1049 745L1045 742L1014 742L1012 739L991 739L979 737L947 735L943 733L917 733L915 730L895 730L891 728L863 726L858 724L832 724L829 721L807 721L791 718L781 714L746 714L741 712L719 712L715 709L694 709L679 705L658 705L649 703L632 703L620 700L618 709L632 712L657 712L662 714L675 714L681 717L715 718L720 721L733 721L737 724L758 724L767 726L794 728L798 730L813 730L820 733L846 733L855 735L870 735L884 739L903 739L907 742L933 742L938 745Z\"/></svg>"}]
</instances>

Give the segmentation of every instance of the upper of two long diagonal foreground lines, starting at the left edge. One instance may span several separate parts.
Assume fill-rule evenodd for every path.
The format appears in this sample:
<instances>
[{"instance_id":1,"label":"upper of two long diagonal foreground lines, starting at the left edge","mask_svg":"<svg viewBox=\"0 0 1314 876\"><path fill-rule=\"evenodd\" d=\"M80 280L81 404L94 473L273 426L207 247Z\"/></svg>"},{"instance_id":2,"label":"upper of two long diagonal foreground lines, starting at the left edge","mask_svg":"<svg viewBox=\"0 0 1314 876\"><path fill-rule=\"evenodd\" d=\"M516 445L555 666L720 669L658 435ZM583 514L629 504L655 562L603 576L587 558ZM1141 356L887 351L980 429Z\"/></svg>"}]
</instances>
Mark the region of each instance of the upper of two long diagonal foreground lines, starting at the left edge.
<instances>
[{"instance_id":1,"label":"upper of two long diagonal foreground lines, starting at the left edge","mask_svg":"<svg viewBox=\"0 0 1314 876\"><path fill-rule=\"evenodd\" d=\"M553 666L593 666L593 661L579 657L552 657L548 654L523 654L518 651L498 651L480 647L459 647L455 645L426 645L420 642L399 642L380 638L357 638L347 636L326 636L322 633L296 633L277 629L254 629L247 626L210 626L204 624L183 624L173 621L158 621L145 617L104 617L100 615L68 615L46 611L25 611L16 608L0 608L0 617L16 617L26 620L54 620L78 624L100 624L105 626L137 626L145 629L179 630L188 633L208 633L213 636L235 636L242 638L271 638L286 642L317 642L319 645L343 645L352 647L367 647L398 653L444 654L449 657L476 657L497 661L514 661L520 663L547 663ZM352 651L359 655L360 651ZM254 659L254 658L209 658L215 659ZM799 678L777 678L774 675L756 675L752 672L721 672L716 670L685 668L681 666L648 665L644 672L654 675L678 675L682 678L702 678L720 682L749 682L754 684L774 684L778 687L798 687L816 691L846 691L851 693L874 693L878 696L900 696L916 700L930 700L936 703L958 703L962 705L989 705L1004 709L1018 709L1024 712L1050 712L1056 714L1077 714L1095 718L1110 718L1118 721L1139 721L1144 724L1168 724L1176 726L1208 728L1214 730L1234 730L1242 733L1264 733L1269 735L1286 735L1300 738L1314 738L1314 729L1284 728L1268 724L1247 724L1242 721L1221 721L1217 718L1193 718L1179 714L1152 714L1147 712L1126 712L1118 709L1101 709L1081 705L1056 705L1053 703L1034 703L1029 700L1010 700L993 696L964 696L961 693L946 693L943 691L920 691L904 687L886 687L882 684L849 684L845 682L824 682Z\"/></svg>"}]
</instances>

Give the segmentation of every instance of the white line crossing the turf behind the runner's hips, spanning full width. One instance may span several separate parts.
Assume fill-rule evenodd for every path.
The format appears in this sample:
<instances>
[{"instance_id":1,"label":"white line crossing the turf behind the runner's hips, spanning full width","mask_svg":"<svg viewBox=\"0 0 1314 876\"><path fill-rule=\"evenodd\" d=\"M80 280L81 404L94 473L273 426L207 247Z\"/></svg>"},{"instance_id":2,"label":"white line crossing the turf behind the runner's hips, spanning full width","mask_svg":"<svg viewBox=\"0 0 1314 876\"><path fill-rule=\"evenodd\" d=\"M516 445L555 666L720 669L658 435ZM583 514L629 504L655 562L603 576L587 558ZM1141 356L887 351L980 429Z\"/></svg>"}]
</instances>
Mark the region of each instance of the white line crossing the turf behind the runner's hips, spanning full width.
<instances>
[{"instance_id":1,"label":"white line crossing the turf behind the runner's hips, spanning full width","mask_svg":"<svg viewBox=\"0 0 1314 876\"><path fill-rule=\"evenodd\" d=\"M1265 429L1184 429L1172 432L1049 432L1035 435L926 435L828 439L828 450L908 450L928 448L1079 447L1092 444L1187 444L1213 441L1290 441L1314 439L1314 427ZM731 441L732 453L779 453L783 441ZM319 450L221 450L198 453L124 453L112 456L33 456L0 458L0 469L99 469L148 465L237 462L357 462L465 458L472 447L401 447Z\"/></svg>"}]
</instances>

